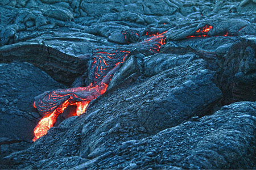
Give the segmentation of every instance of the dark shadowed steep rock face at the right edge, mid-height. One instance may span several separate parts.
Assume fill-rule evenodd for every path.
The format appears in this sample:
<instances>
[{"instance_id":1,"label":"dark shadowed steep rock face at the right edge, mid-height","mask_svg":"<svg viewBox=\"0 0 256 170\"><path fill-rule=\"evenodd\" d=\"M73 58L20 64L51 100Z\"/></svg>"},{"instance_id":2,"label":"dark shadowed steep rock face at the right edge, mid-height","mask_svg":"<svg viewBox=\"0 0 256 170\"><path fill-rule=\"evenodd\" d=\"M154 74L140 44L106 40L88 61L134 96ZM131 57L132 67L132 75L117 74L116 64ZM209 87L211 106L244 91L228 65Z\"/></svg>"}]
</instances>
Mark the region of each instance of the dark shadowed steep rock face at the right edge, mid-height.
<instances>
[{"instance_id":1,"label":"dark shadowed steep rock face at the right edge, mid-height","mask_svg":"<svg viewBox=\"0 0 256 170\"><path fill-rule=\"evenodd\" d=\"M242 36L219 59L220 87L228 101L256 100L256 37Z\"/></svg>"}]
</instances>

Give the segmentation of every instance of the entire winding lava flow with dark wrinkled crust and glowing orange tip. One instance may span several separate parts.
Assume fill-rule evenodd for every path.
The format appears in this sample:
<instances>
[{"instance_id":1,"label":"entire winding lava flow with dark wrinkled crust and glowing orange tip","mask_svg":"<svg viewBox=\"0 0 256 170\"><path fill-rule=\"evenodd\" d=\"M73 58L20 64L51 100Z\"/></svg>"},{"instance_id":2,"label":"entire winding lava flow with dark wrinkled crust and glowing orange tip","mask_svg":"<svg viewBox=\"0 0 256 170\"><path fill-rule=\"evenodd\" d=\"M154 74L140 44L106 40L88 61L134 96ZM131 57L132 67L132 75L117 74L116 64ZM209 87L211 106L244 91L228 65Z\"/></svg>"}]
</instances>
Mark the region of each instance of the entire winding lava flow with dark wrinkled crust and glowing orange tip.
<instances>
[{"instance_id":1,"label":"entire winding lava flow with dark wrinkled crust and glowing orange tip","mask_svg":"<svg viewBox=\"0 0 256 170\"><path fill-rule=\"evenodd\" d=\"M63 113L69 105L76 105L76 116L83 114L91 100L105 93L112 76L121 67L121 63L125 62L131 50L140 48L141 50L150 50L151 53L158 53L160 46L166 43L164 33L166 32L155 33L142 42L125 47L119 46L119 50L96 49L89 61L89 80L91 82L89 86L46 91L36 96L34 107L44 117L36 125L35 137L32 141L45 135L55 124L59 114Z\"/></svg>"}]
</instances>

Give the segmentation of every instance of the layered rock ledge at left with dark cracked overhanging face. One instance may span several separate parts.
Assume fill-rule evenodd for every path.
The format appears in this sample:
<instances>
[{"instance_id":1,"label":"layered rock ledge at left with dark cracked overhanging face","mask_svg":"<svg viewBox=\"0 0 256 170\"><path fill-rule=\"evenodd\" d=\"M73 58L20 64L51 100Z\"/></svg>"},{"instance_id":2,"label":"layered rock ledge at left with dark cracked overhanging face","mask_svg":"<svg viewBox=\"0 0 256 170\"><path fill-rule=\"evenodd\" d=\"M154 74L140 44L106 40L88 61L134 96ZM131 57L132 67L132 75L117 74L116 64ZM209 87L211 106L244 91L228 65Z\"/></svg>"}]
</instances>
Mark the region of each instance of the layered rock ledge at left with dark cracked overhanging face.
<instances>
[{"instance_id":1,"label":"layered rock ledge at left with dark cracked overhanging face","mask_svg":"<svg viewBox=\"0 0 256 170\"><path fill-rule=\"evenodd\" d=\"M47 35L50 33L49 35ZM53 34L53 35L51 35ZM35 36L35 37L34 37ZM55 80L71 84L85 73L88 67L89 51L98 42L86 33L41 32L27 42L0 47L0 61L26 61L46 71ZM73 48L75 47L75 48Z\"/></svg>"}]
</instances>

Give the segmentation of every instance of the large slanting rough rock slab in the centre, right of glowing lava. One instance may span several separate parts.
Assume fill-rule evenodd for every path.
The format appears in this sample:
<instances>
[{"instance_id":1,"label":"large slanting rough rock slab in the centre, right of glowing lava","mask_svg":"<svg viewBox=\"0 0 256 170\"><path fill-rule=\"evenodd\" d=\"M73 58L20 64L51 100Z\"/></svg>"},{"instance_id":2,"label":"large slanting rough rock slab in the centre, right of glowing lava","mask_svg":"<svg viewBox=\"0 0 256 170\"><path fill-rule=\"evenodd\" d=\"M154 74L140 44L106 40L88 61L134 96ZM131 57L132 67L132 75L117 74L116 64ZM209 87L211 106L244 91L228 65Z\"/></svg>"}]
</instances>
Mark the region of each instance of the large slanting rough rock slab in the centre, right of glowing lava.
<instances>
[{"instance_id":1,"label":"large slanting rough rock slab in the centre, right of glowing lava","mask_svg":"<svg viewBox=\"0 0 256 170\"><path fill-rule=\"evenodd\" d=\"M52 158L48 160L51 163L45 160L43 164L53 164L51 168L71 168L113 150L122 142L141 139L193 116L202 116L221 99L221 91L212 82L213 75L205 61L197 59L152 76L134 87L104 94L91 103L86 115L64 121L59 128L51 129L38 139L29 150L4 161L10 166L18 164L15 168L24 168L32 162L42 165L41 160ZM24 156L29 156L29 160L22 159ZM60 156L86 159L67 165L60 163ZM59 167L54 167L57 160Z\"/></svg>"}]
</instances>

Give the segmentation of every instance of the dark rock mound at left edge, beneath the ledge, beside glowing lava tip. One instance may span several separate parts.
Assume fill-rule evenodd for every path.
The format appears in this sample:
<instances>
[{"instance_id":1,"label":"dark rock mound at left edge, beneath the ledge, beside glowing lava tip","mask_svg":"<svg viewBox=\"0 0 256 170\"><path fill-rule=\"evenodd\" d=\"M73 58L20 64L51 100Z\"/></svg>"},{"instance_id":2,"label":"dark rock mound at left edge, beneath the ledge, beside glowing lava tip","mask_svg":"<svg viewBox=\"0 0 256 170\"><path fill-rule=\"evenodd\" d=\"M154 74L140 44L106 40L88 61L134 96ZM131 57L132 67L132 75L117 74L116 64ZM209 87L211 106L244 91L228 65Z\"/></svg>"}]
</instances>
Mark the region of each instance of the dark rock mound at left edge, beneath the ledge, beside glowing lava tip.
<instances>
[{"instance_id":1,"label":"dark rock mound at left edge, beneath the ledge, beside glowing lava tip","mask_svg":"<svg viewBox=\"0 0 256 170\"><path fill-rule=\"evenodd\" d=\"M40 115L32 107L34 95L64 88L30 63L0 64L1 156L31 145Z\"/></svg>"}]
</instances>

